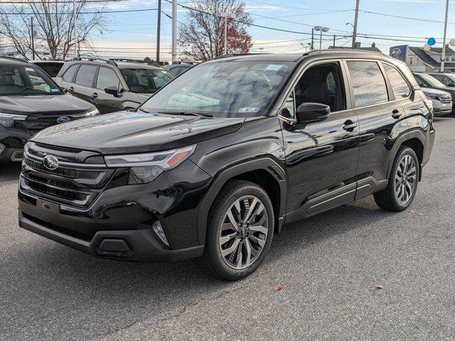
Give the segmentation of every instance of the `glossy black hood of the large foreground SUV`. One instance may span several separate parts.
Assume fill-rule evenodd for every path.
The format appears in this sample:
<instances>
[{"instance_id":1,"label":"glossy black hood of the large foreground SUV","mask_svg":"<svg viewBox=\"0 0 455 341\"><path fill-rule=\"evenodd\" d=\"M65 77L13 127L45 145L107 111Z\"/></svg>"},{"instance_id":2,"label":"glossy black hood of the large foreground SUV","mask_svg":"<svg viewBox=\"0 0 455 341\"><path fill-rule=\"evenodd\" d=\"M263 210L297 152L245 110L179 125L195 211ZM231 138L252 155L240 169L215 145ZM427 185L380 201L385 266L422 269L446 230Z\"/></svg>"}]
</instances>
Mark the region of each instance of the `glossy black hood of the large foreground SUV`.
<instances>
[{"instance_id":1,"label":"glossy black hood of the large foreground SUV","mask_svg":"<svg viewBox=\"0 0 455 341\"><path fill-rule=\"evenodd\" d=\"M164 151L232 133L244 118L115 112L51 126L32 141L104 155Z\"/></svg>"}]
</instances>

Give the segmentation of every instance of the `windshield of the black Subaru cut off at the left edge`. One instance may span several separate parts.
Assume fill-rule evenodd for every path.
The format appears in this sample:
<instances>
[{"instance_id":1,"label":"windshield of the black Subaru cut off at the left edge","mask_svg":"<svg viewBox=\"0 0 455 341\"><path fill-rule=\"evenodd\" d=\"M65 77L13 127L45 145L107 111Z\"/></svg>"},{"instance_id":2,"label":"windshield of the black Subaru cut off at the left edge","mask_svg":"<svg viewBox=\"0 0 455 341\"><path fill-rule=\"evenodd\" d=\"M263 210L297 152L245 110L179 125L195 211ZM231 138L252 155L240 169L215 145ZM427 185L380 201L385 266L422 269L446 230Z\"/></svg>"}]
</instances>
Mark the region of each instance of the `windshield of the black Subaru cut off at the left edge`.
<instances>
[{"instance_id":1,"label":"windshield of the black Subaru cut off at the left edge","mask_svg":"<svg viewBox=\"0 0 455 341\"><path fill-rule=\"evenodd\" d=\"M63 94L51 77L38 67L22 65L0 66L0 96L33 94Z\"/></svg>"}]
</instances>

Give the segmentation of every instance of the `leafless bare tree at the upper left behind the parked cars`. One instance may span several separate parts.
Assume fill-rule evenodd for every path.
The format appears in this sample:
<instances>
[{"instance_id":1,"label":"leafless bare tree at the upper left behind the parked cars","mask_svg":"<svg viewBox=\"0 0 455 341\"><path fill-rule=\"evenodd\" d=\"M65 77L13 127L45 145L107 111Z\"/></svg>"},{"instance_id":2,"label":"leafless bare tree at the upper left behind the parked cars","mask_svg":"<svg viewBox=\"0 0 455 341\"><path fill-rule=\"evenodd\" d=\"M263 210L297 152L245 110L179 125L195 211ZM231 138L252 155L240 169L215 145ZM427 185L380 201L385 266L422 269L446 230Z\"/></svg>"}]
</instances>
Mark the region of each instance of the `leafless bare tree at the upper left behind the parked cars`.
<instances>
[{"instance_id":1,"label":"leafless bare tree at the upper left behind the parked cars","mask_svg":"<svg viewBox=\"0 0 455 341\"><path fill-rule=\"evenodd\" d=\"M88 7L87 0L76 2L76 13ZM78 15L77 44L90 47L90 38L102 33L105 27L105 8L88 9ZM48 53L50 58L66 59L75 44L73 33L73 4L70 1L23 0L0 9L0 34L4 36L11 54L30 58L32 52L31 18L33 17L34 48ZM42 58L37 53L38 59Z\"/></svg>"}]
</instances>

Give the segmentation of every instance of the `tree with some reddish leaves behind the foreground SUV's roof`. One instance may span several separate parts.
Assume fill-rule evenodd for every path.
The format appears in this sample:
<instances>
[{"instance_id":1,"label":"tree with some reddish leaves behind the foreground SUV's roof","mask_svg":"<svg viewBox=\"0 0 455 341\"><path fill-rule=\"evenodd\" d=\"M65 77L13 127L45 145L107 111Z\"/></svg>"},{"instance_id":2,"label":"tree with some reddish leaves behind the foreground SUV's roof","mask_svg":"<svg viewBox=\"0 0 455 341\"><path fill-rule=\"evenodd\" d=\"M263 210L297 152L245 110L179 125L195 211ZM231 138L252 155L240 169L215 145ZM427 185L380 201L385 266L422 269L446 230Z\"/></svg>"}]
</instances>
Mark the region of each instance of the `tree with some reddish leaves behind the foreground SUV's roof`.
<instances>
[{"instance_id":1,"label":"tree with some reddish leaves behind the foreground SUV's roof","mask_svg":"<svg viewBox=\"0 0 455 341\"><path fill-rule=\"evenodd\" d=\"M189 7L189 6L188 6ZM223 54L224 18L216 12L231 13L235 19L228 20L228 53L248 53L253 45L246 31L253 23L241 0L193 0L191 9L179 27L180 53L184 58L209 60Z\"/></svg>"}]
</instances>

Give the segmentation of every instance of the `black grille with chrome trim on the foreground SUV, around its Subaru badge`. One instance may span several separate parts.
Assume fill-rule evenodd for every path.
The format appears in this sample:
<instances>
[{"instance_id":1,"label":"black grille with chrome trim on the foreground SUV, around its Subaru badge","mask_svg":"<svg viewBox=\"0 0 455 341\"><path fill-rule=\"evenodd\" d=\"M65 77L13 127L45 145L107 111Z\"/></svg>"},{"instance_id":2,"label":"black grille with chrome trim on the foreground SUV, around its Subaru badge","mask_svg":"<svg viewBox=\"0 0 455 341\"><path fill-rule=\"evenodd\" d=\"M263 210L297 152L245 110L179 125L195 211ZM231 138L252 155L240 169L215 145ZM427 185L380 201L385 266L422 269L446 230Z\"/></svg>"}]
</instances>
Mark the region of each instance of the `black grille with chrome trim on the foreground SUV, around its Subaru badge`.
<instances>
[{"instance_id":1,"label":"black grille with chrome trim on the foreground SUV, around its Subaru badge","mask_svg":"<svg viewBox=\"0 0 455 341\"><path fill-rule=\"evenodd\" d=\"M98 153L74 151L74 159L81 153L100 157ZM52 149L29 143L22 163L21 191L63 205L89 207L115 173L115 169L106 168L104 164L83 162L61 162L58 168L50 170L43 165L43 157L37 154L56 158L60 156L64 161L71 156L70 152L61 151L61 148Z\"/></svg>"}]
</instances>

